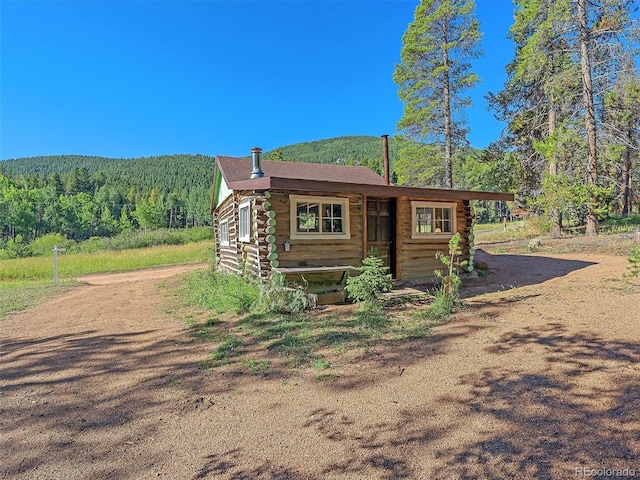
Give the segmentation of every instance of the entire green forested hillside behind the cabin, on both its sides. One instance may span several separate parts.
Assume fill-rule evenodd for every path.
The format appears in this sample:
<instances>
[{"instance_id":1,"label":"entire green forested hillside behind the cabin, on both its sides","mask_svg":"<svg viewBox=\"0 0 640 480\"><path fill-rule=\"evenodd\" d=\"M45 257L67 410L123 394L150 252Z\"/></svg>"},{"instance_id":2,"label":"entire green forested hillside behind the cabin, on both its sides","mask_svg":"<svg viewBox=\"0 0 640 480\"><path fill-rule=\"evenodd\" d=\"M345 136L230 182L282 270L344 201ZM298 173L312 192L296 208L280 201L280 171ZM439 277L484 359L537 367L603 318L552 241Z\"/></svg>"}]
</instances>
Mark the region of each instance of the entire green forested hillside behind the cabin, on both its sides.
<instances>
[{"instance_id":1,"label":"entire green forested hillside behind the cabin, on both its sides","mask_svg":"<svg viewBox=\"0 0 640 480\"><path fill-rule=\"evenodd\" d=\"M278 161L364 165L381 174L383 148L380 137L337 137L279 147L264 156ZM443 186L442 146L390 138L389 156L394 183ZM84 240L133 229L210 225L214 163L214 157L205 155L138 159L59 155L2 161L0 257L19 256L28 250L25 245L48 234ZM521 181L531 172L518 164L516 155L466 147L455 153L452 164L454 188L519 192L526 201ZM532 198L530 204L535 208L535 196ZM505 208L479 202L477 219L496 221ZM611 210L615 208L612 205ZM584 220L584 209L564 213L566 221L575 219L578 224Z\"/></svg>"}]
</instances>

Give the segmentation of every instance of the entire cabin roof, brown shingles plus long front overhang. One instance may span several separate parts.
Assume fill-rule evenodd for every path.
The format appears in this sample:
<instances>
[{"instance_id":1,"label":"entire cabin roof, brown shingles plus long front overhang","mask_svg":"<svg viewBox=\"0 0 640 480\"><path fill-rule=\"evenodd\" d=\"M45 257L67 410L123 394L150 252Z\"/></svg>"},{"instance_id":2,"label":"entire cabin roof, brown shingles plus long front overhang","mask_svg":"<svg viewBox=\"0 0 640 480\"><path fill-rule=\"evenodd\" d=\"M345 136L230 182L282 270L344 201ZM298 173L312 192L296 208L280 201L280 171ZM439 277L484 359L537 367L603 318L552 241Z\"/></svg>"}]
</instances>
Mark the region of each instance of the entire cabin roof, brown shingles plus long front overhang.
<instances>
[{"instance_id":1,"label":"entire cabin roof, brown shingles plus long front overhang","mask_svg":"<svg viewBox=\"0 0 640 480\"><path fill-rule=\"evenodd\" d=\"M216 163L232 190L289 190L323 193L353 193L378 197L410 197L425 200L506 200L504 192L449 190L386 185L383 177L367 167L263 160L264 176L250 179L250 158L217 156Z\"/></svg>"}]
</instances>

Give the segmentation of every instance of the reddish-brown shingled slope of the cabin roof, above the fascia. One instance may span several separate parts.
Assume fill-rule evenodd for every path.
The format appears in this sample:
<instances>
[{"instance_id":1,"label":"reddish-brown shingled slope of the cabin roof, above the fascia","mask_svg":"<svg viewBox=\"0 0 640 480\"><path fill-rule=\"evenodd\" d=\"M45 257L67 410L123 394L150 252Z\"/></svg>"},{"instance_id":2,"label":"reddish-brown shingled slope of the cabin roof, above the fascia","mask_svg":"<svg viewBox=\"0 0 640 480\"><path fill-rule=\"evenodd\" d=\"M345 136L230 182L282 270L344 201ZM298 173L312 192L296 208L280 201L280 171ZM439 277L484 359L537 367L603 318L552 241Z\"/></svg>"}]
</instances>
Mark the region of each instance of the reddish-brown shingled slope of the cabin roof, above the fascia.
<instances>
[{"instance_id":1,"label":"reddish-brown shingled slope of the cabin roof, above the fascia","mask_svg":"<svg viewBox=\"0 0 640 480\"><path fill-rule=\"evenodd\" d=\"M216 159L225 182L230 187L234 182L249 180L252 170L250 158L217 156ZM262 171L265 177L355 183L359 185L385 184L383 177L367 167L359 166L262 160Z\"/></svg>"}]
</instances>

